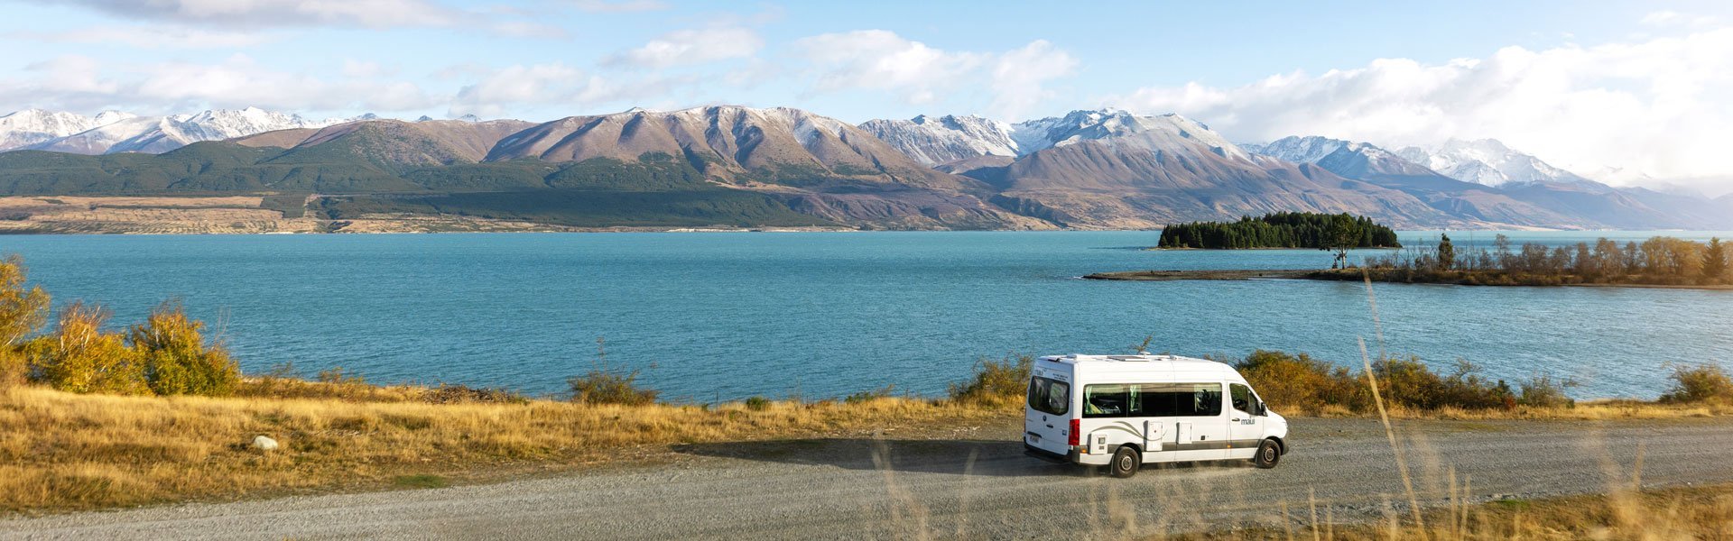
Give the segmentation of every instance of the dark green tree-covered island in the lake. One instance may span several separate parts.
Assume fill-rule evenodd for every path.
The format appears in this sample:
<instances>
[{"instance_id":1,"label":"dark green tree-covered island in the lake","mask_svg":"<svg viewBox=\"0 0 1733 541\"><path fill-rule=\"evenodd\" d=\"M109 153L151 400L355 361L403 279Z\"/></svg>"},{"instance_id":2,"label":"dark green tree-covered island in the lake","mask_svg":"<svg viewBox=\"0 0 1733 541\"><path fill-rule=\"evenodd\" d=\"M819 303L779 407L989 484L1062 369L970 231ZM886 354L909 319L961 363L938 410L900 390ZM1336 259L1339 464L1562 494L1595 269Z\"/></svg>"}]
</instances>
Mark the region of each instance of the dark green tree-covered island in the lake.
<instances>
[{"instance_id":1,"label":"dark green tree-covered island in the lake","mask_svg":"<svg viewBox=\"0 0 1733 541\"><path fill-rule=\"evenodd\" d=\"M1367 217L1279 212L1237 222L1172 224L1161 248L1400 248L1395 231Z\"/></svg>"}]
</instances>

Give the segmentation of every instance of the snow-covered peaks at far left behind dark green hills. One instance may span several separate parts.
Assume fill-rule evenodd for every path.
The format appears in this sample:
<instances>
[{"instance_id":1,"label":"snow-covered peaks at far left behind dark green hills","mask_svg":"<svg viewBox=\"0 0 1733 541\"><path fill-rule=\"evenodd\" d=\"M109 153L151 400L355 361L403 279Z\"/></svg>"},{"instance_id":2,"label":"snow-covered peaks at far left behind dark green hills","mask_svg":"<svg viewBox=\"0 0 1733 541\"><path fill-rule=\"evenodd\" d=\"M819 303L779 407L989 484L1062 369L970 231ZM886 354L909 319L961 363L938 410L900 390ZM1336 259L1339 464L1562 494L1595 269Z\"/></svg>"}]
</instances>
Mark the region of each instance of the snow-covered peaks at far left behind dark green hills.
<instances>
[{"instance_id":1,"label":"snow-covered peaks at far left behind dark green hills","mask_svg":"<svg viewBox=\"0 0 1733 541\"><path fill-rule=\"evenodd\" d=\"M355 120L366 118L376 116L366 114ZM116 116L109 116L109 120L113 121L24 147L75 154L166 153L199 140L222 140L288 128L322 128L350 121L345 118L305 120L300 114L284 114L258 108L239 111L213 109L198 114L172 116L132 116L118 113Z\"/></svg>"}]
</instances>

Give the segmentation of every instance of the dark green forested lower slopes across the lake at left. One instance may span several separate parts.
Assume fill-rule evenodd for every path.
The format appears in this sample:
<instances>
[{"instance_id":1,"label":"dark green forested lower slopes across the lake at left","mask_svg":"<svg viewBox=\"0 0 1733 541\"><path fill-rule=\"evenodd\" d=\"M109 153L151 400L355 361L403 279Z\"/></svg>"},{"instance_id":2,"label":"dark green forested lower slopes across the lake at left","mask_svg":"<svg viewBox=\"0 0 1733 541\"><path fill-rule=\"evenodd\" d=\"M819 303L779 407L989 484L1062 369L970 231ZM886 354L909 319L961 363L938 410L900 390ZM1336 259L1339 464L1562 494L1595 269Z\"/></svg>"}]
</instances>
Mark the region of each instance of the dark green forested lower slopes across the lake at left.
<instances>
[{"instance_id":1,"label":"dark green forested lower slopes across the lake at left","mask_svg":"<svg viewBox=\"0 0 1733 541\"><path fill-rule=\"evenodd\" d=\"M17 151L0 153L0 194L274 192L265 208L291 218L302 217L307 194L326 194L315 212L329 220L411 213L572 227L834 225L776 196L709 182L691 160L665 153L638 161L416 165L438 158L435 151L376 149L366 140L300 151L196 142L156 156Z\"/></svg>"}]
</instances>

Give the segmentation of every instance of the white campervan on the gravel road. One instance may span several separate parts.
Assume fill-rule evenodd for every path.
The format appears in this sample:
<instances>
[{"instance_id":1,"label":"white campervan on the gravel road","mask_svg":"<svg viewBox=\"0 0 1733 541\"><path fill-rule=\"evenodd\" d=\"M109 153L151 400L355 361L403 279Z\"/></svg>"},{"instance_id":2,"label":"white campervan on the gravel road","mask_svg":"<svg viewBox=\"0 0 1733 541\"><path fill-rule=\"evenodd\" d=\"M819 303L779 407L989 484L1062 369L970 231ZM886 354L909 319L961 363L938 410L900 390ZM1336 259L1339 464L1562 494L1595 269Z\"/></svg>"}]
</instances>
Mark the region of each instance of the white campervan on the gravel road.
<instances>
[{"instance_id":1,"label":"white campervan on the gravel road","mask_svg":"<svg viewBox=\"0 0 1733 541\"><path fill-rule=\"evenodd\" d=\"M1288 420L1232 366L1175 355L1050 355L1035 362L1024 449L1038 458L1107 466L1288 454Z\"/></svg>"}]
</instances>

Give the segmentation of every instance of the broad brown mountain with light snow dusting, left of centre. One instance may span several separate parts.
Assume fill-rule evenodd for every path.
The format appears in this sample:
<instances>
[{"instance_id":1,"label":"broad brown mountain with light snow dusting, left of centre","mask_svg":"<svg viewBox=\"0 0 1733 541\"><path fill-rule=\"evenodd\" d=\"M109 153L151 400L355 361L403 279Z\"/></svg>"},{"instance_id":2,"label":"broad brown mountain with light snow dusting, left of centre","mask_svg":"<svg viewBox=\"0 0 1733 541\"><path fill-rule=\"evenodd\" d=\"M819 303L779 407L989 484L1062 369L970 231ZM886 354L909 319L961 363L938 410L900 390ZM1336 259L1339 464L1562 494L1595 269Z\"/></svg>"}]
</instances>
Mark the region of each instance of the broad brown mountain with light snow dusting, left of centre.
<instances>
[{"instance_id":1,"label":"broad brown mountain with light snow dusting, left of centre","mask_svg":"<svg viewBox=\"0 0 1733 541\"><path fill-rule=\"evenodd\" d=\"M870 134L801 109L712 106L572 116L501 140L485 160L685 160L717 186L783 198L789 206L866 227L1047 229L986 203L984 182L915 163Z\"/></svg>"}]
</instances>

